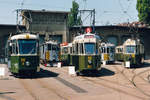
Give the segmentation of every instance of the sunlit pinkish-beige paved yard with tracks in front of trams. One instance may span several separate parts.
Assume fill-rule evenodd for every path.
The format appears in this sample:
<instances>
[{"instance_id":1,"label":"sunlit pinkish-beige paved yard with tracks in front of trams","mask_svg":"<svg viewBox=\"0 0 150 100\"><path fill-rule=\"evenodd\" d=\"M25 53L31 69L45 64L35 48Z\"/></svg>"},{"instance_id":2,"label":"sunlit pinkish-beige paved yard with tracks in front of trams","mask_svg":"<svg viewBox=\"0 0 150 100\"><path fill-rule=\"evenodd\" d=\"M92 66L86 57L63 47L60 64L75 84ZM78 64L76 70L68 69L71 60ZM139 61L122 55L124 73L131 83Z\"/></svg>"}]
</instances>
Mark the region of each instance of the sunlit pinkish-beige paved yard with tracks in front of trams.
<instances>
[{"instance_id":1,"label":"sunlit pinkish-beige paved yard with tracks in front of trams","mask_svg":"<svg viewBox=\"0 0 150 100\"><path fill-rule=\"evenodd\" d=\"M150 61L127 69L102 65L97 75L70 76L68 67L44 67L34 77L15 78L6 68L0 100L150 100Z\"/></svg>"}]
</instances>

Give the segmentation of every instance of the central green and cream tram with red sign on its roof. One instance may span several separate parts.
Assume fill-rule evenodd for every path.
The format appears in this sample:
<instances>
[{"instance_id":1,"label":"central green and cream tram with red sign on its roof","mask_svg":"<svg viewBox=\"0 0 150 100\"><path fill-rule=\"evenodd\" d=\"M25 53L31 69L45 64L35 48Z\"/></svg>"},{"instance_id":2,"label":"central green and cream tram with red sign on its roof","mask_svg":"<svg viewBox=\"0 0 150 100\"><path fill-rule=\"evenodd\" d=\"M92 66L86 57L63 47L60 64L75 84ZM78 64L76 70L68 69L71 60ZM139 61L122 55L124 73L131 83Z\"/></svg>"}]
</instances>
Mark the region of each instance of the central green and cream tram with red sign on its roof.
<instances>
[{"instance_id":1,"label":"central green and cream tram with red sign on its roof","mask_svg":"<svg viewBox=\"0 0 150 100\"><path fill-rule=\"evenodd\" d=\"M77 73L96 71L101 68L100 37L87 33L76 36L72 42L71 63Z\"/></svg>"}]
</instances>

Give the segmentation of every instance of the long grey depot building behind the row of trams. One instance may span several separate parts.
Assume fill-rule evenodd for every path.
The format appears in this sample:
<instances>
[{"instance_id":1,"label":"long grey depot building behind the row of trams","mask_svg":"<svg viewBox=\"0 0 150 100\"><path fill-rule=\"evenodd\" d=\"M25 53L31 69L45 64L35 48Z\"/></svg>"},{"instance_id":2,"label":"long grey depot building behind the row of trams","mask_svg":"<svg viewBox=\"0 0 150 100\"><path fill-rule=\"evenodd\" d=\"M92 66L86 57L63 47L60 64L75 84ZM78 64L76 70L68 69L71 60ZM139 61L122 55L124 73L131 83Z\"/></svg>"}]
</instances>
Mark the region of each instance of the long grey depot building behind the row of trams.
<instances>
[{"instance_id":1,"label":"long grey depot building behind the row of trams","mask_svg":"<svg viewBox=\"0 0 150 100\"><path fill-rule=\"evenodd\" d=\"M81 30L81 27L67 27L67 16L69 12L46 11L46 10L22 10L22 25L20 30L30 30L39 34L40 43L44 42L45 36L59 43L71 42L73 37ZM32 22L29 20L32 19ZM6 41L10 33L16 33L16 25L0 24L0 63L5 59ZM84 30L86 27L82 27ZM121 45L127 38L139 37L144 43L145 56L150 58L150 28L129 26L95 26L96 34L103 40Z\"/></svg>"}]
</instances>

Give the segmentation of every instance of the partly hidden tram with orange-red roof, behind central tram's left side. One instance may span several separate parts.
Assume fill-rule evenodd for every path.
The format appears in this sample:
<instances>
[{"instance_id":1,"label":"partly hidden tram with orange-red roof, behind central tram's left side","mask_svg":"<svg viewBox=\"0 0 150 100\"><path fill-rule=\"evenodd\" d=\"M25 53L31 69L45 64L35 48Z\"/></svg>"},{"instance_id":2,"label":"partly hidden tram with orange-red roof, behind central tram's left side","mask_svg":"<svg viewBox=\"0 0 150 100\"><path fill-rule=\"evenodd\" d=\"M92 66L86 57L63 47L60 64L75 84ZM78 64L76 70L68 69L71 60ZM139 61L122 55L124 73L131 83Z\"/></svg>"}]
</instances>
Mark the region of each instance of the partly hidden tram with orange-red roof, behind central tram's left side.
<instances>
[{"instance_id":1,"label":"partly hidden tram with orange-red roof, behind central tram's left side","mask_svg":"<svg viewBox=\"0 0 150 100\"><path fill-rule=\"evenodd\" d=\"M72 43L64 42L60 44L60 61L62 65L70 65L70 53L72 51Z\"/></svg>"}]
</instances>

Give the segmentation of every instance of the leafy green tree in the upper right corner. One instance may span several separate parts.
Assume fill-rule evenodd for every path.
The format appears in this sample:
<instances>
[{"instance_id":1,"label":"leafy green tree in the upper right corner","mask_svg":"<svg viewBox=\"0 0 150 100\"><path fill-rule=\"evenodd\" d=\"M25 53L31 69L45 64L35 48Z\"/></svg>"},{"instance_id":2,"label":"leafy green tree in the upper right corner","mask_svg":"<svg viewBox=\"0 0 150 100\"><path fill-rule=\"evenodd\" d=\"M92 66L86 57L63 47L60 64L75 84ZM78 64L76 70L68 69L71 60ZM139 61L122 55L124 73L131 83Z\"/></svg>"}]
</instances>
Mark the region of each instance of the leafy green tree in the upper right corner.
<instances>
[{"instance_id":1,"label":"leafy green tree in the upper right corner","mask_svg":"<svg viewBox=\"0 0 150 100\"><path fill-rule=\"evenodd\" d=\"M139 21L150 25L150 0L137 0Z\"/></svg>"}]
</instances>

